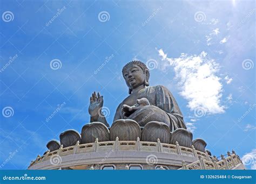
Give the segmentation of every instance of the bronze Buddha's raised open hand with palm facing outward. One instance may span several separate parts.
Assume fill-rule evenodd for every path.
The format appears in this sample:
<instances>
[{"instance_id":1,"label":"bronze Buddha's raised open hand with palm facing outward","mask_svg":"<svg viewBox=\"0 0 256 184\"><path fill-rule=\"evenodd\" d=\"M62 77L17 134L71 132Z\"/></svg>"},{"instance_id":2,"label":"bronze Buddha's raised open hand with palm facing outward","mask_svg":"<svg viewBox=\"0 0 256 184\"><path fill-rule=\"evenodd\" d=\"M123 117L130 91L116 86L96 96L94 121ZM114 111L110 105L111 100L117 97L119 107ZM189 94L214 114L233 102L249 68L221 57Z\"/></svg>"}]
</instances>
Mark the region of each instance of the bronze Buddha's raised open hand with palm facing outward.
<instances>
[{"instance_id":1,"label":"bronze Buddha's raised open hand with palm facing outward","mask_svg":"<svg viewBox=\"0 0 256 184\"><path fill-rule=\"evenodd\" d=\"M96 92L94 91L92 96L90 97L90 106L89 106L89 114L91 117L98 116L100 114L100 110L103 106L103 96L96 95Z\"/></svg>"}]
</instances>

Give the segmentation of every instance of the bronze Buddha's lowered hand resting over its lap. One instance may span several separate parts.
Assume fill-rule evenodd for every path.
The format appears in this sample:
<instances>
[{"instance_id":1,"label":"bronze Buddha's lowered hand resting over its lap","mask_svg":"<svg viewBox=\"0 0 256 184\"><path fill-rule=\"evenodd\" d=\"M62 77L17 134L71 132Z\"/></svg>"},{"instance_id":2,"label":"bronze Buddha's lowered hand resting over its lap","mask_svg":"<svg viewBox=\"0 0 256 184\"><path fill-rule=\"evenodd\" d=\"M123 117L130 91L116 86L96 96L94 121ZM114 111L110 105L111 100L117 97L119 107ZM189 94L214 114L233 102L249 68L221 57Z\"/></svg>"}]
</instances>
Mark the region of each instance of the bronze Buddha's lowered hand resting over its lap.
<instances>
[{"instance_id":1,"label":"bronze Buddha's lowered hand resting over its lap","mask_svg":"<svg viewBox=\"0 0 256 184\"><path fill-rule=\"evenodd\" d=\"M147 100L147 98L140 98L137 100L137 104L133 105L133 106L129 106L129 105L123 105L122 107L122 113L123 113L123 117L127 118L129 117L134 111L146 106L146 105L150 105L149 100Z\"/></svg>"}]
</instances>

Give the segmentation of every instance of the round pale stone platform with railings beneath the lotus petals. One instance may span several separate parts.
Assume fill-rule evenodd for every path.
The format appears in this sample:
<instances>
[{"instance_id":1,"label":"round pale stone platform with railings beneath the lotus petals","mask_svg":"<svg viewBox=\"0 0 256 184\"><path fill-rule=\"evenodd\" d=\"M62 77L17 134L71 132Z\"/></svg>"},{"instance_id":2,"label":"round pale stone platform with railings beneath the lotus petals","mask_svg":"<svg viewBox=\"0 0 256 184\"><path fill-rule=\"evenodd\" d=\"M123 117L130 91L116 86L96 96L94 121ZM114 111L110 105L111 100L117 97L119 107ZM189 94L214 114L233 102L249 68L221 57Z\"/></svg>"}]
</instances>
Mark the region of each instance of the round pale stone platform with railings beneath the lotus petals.
<instances>
[{"instance_id":1,"label":"round pale stone platform with railings beneath the lotus petals","mask_svg":"<svg viewBox=\"0 0 256 184\"><path fill-rule=\"evenodd\" d=\"M157 142L102 141L38 155L28 169L244 169L232 151L221 160L194 148Z\"/></svg>"}]
</instances>

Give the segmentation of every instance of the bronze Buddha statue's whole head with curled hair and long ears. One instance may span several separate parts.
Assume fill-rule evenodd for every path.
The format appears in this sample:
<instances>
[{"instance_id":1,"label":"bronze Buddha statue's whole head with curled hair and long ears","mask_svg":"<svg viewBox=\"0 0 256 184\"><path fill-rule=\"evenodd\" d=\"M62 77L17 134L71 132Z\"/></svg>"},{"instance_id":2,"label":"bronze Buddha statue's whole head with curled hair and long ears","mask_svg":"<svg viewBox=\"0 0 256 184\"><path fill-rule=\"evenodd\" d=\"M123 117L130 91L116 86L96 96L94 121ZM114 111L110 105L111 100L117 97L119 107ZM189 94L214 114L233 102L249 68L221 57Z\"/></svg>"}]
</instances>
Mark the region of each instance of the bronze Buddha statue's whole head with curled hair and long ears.
<instances>
[{"instance_id":1,"label":"bronze Buddha statue's whole head with curled hair and long ears","mask_svg":"<svg viewBox=\"0 0 256 184\"><path fill-rule=\"evenodd\" d=\"M139 86L149 86L149 68L143 62L131 61L124 66L122 72L129 94Z\"/></svg>"}]
</instances>

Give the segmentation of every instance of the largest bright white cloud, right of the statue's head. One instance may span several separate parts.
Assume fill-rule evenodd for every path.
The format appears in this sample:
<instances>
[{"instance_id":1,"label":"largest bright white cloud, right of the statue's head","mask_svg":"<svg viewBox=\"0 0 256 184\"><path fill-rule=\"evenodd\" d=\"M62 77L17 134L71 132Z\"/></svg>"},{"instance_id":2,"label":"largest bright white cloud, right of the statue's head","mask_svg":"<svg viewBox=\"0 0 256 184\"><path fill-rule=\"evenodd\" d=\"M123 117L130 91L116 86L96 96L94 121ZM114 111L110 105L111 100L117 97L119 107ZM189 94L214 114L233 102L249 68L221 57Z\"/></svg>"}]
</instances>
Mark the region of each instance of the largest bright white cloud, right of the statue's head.
<instances>
[{"instance_id":1,"label":"largest bright white cloud, right of the statue's head","mask_svg":"<svg viewBox=\"0 0 256 184\"><path fill-rule=\"evenodd\" d=\"M192 111L204 109L208 114L225 111L224 106L220 104L223 85L221 78L217 76L219 65L209 59L206 52L191 56L182 53L179 58L167 58L163 49L159 49L158 53L163 62L167 61L168 65L174 68L181 89L180 95L188 101L188 108Z\"/></svg>"}]
</instances>

